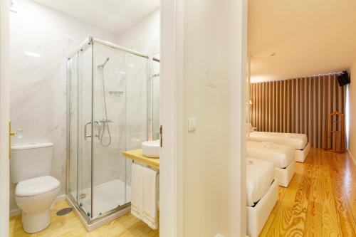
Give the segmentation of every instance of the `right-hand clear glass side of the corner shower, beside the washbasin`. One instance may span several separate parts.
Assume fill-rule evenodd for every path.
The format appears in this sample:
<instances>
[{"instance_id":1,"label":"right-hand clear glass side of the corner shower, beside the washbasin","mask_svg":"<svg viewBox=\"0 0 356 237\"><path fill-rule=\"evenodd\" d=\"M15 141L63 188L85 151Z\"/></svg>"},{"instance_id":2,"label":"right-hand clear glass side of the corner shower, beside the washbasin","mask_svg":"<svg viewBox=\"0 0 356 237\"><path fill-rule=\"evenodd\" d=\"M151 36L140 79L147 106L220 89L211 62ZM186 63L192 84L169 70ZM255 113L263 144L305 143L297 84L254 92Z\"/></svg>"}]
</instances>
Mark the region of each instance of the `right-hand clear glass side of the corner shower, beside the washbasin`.
<instances>
[{"instance_id":1,"label":"right-hand clear glass side of the corner shower, beside the washbasin","mask_svg":"<svg viewBox=\"0 0 356 237\"><path fill-rule=\"evenodd\" d=\"M96 217L130 202L132 162L122 152L147 140L147 58L100 43L93 52Z\"/></svg>"}]
</instances>

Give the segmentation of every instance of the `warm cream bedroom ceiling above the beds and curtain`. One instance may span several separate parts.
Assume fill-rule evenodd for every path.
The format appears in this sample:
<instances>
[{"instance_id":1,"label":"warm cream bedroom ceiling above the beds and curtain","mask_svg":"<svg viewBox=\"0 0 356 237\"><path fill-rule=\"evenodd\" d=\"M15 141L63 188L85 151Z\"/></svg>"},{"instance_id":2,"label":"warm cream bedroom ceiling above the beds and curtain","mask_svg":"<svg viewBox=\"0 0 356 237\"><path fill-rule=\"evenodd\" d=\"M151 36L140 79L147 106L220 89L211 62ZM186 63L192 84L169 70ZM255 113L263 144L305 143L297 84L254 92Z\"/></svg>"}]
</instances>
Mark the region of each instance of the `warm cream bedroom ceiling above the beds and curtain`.
<instances>
[{"instance_id":1,"label":"warm cream bedroom ceiling above the beds and curtain","mask_svg":"<svg viewBox=\"0 0 356 237\"><path fill-rule=\"evenodd\" d=\"M248 55L252 82L348 69L356 60L356 1L248 1Z\"/></svg>"}]
</instances>

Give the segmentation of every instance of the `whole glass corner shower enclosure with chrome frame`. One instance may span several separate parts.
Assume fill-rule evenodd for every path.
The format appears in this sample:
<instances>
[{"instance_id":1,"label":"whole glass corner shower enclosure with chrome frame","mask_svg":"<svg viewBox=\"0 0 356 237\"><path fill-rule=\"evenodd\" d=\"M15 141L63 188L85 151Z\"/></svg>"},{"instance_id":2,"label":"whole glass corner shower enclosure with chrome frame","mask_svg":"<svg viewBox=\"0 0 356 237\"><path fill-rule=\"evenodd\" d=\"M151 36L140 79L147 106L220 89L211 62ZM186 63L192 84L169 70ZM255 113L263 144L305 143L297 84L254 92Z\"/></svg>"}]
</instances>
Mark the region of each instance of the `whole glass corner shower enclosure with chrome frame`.
<instances>
[{"instance_id":1,"label":"whole glass corner shower enclosure with chrome frame","mask_svg":"<svg viewBox=\"0 0 356 237\"><path fill-rule=\"evenodd\" d=\"M68 58L67 197L88 230L130 211L122 152L153 138L153 62L157 70L157 58L92 37Z\"/></svg>"}]
</instances>

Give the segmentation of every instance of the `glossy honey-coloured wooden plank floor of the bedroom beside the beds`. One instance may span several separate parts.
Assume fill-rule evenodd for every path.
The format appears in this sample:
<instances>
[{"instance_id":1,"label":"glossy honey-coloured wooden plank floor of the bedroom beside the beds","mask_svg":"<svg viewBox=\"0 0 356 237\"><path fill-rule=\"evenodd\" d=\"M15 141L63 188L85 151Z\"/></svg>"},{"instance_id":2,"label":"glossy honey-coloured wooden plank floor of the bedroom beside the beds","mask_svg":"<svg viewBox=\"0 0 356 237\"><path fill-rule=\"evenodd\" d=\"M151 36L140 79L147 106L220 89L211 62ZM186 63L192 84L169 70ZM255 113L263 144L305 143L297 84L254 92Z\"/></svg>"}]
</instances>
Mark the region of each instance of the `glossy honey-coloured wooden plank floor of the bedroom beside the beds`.
<instances>
[{"instance_id":1,"label":"glossy honey-coloured wooden plank floor of the bedroom beside the beds","mask_svg":"<svg viewBox=\"0 0 356 237\"><path fill-rule=\"evenodd\" d=\"M356 236L356 167L345 154L311 149L260 236Z\"/></svg>"}]
</instances>

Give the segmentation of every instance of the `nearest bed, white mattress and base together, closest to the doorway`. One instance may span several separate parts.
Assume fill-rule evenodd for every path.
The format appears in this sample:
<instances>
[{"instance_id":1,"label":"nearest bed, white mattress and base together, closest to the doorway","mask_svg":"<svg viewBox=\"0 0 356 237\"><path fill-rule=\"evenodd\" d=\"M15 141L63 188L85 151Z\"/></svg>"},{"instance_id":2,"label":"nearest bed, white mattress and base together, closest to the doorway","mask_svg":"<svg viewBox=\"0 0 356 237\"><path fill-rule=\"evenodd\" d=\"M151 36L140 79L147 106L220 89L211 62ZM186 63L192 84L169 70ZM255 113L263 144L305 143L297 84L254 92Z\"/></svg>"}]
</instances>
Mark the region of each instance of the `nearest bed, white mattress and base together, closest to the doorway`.
<instances>
[{"instance_id":1,"label":"nearest bed, white mattress and base together, closest to the doorway","mask_svg":"<svg viewBox=\"0 0 356 237\"><path fill-rule=\"evenodd\" d=\"M260 159L246 159L247 234L257 237L278 199L274 165Z\"/></svg>"}]
</instances>

